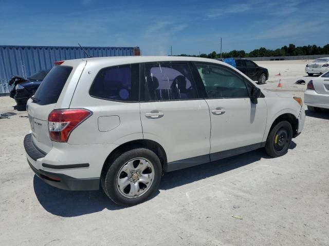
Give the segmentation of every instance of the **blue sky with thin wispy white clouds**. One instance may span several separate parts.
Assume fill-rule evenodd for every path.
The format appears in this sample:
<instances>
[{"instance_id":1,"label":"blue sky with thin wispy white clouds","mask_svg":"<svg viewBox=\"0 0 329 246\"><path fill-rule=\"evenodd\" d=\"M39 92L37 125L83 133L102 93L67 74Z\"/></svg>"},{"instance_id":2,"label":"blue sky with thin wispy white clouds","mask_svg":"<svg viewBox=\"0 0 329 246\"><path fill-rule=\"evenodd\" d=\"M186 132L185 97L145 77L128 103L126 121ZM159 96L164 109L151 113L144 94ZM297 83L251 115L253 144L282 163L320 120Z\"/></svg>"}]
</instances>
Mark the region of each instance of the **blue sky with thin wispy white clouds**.
<instances>
[{"instance_id":1,"label":"blue sky with thin wispy white clouds","mask_svg":"<svg viewBox=\"0 0 329 246\"><path fill-rule=\"evenodd\" d=\"M0 0L0 45L199 54L329 43L329 0Z\"/></svg>"}]
</instances>

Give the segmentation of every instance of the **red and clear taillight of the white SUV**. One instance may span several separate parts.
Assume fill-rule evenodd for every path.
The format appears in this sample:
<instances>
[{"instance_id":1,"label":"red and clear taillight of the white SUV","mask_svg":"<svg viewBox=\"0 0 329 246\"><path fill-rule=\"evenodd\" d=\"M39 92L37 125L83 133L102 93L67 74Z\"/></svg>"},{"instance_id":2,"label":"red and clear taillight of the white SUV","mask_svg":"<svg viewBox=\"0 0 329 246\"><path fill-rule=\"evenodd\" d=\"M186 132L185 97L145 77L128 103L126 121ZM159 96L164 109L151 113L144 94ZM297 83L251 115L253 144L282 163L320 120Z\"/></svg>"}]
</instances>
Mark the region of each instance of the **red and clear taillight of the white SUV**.
<instances>
[{"instance_id":1,"label":"red and clear taillight of the white SUV","mask_svg":"<svg viewBox=\"0 0 329 246\"><path fill-rule=\"evenodd\" d=\"M51 140L67 142L70 133L92 112L86 109L56 109L48 116L48 129Z\"/></svg>"}]
</instances>

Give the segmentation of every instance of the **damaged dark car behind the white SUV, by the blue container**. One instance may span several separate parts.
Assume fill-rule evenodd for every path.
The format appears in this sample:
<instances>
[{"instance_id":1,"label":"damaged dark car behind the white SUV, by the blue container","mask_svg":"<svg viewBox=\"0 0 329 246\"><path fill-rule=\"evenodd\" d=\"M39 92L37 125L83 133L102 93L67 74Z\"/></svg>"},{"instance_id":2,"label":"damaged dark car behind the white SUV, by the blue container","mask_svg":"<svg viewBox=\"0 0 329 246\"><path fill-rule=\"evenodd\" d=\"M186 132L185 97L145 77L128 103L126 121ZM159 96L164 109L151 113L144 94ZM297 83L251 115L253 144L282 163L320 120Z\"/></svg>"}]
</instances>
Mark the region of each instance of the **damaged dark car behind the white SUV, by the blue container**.
<instances>
[{"instance_id":1,"label":"damaged dark car behind the white SUV, by the blue container","mask_svg":"<svg viewBox=\"0 0 329 246\"><path fill-rule=\"evenodd\" d=\"M38 90L42 80L49 71L50 69L40 70L27 78L20 75L12 75L8 81L9 96L15 99L17 105L26 104L27 100Z\"/></svg>"}]
</instances>

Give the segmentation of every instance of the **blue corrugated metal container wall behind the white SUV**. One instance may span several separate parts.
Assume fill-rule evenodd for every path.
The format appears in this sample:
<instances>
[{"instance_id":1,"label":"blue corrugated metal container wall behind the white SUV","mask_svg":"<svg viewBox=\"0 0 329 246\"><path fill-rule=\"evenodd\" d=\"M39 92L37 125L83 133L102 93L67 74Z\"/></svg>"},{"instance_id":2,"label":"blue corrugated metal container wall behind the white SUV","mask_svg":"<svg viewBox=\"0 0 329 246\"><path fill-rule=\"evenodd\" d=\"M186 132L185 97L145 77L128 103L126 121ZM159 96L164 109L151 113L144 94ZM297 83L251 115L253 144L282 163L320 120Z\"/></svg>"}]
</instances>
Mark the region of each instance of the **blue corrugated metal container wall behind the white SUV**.
<instances>
[{"instance_id":1,"label":"blue corrugated metal container wall behind the white SUV","mask_svg":"<svg viewBox=\"0 0 329 246\"><path fill-rule=\"evenodd\" d=\"M93 57L136 54L138 47L84 47ZM135 49L135 50L134 50ZM7 93L11 75L29 76L49 69L56 60L85 58L80 47L0 46L0 94Z\"/></svg>"}]
</instances>

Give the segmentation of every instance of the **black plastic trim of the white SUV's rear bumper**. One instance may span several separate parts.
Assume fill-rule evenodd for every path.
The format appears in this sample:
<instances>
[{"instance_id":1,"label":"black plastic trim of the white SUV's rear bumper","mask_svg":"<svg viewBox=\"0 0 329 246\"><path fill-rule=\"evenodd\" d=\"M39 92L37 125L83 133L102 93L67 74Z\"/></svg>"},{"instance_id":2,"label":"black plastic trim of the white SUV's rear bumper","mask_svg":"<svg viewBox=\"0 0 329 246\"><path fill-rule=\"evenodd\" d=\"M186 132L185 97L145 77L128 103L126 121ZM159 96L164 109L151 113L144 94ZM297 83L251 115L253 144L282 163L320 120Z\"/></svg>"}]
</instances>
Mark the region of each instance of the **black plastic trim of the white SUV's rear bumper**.
<instances>
[{"instance_id":1,"label":"black plastic trim of the white SUV's rear bumper","mask_svg":"<svg viewBox=\"0 0 329 246\"><path fill-rule=\"evenodd\" d=\"M36 176L41 178L44 182L48 183L49 185L70 191L99 190L100 178L74 178L62 173L53 173L42 169L38 169L36 167L36 160L43 158L45 154L34 146L31 138L31 134L27 134L25 136L24 148L27 155L27 161L32 171L36 174ZM42 163L42 165L47 166L46 163ZM80 167L85 167L85 165L83 166L83 164L78 164L77 165L78 168L80 168L79 165ZM75 165L71 165L71 166L67 165L67 167L60 167L60 168L72 169L75 168Z\"/></svg>"}]
</instances>

